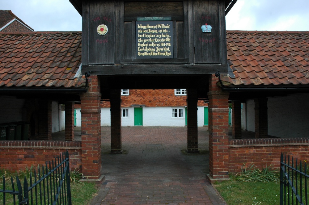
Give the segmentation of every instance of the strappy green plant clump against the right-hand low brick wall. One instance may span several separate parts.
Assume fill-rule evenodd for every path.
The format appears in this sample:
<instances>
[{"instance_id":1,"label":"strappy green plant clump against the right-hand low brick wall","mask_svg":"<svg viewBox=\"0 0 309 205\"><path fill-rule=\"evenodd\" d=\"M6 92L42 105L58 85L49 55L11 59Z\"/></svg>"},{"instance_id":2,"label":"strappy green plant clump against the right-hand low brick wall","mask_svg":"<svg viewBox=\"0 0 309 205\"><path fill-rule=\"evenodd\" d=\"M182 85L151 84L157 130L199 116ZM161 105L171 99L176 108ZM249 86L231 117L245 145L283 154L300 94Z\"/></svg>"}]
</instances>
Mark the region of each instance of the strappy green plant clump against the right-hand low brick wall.
<instances>
[{"instance_id":1,"label":"strappy green plant clump against the right-hand low brick wall","mask_svg":"<svg viewBox=\"0 0 309 205\"><path fill-rule=\"evenodd\" d=\"M272 165L266 166L263 169L257 169L254 164L241 167L241 172L236 174L235 180L240 182L278 182L278 169L273 169Z\"/></svg>"}]
</instances>

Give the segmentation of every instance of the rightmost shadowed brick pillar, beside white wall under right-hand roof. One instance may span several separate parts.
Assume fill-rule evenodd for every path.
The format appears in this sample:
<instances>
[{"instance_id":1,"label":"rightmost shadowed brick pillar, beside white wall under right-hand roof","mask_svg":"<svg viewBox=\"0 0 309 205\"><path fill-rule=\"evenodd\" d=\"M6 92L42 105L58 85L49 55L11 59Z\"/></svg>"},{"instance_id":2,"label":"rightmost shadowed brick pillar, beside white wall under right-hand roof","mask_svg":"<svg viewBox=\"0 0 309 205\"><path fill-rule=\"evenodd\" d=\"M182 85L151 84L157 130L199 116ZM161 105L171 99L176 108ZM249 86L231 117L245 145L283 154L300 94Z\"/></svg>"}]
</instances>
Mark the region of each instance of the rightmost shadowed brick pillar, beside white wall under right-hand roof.
<instances>
[{"instance_id":1,"label":"rightmost shadowed brick pillar, beside white wall under right-hand roof","mask_svg":"<svg viewBox=\"0 0 309 205\"><path fill-rule=\"evenodd\" d=\"M267 100L268 98L254 98L255 138L268 137Z\"/></svg>"}]
</instances>

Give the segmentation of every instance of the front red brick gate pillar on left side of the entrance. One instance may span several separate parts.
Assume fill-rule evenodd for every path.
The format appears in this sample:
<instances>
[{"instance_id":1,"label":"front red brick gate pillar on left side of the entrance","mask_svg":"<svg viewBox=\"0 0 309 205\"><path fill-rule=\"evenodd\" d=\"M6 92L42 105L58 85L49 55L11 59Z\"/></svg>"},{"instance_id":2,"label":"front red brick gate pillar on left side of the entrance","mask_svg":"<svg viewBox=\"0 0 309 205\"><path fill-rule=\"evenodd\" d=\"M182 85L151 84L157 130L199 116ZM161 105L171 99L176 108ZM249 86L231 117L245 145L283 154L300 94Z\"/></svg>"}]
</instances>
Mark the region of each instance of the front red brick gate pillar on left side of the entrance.
<instances>
[{"instance_id":1,"label":"front red brick gate pillar on left side of the entrance","mask_svg":"<svg viewBox=\"0 0 309 205\"><path fill-rule=\"evenodd\" d=\"M101 177L101 106L97 76L88 78L87 93L80 94L82 119L82 172L87 180Z\"/></svg>"}]
</instances>

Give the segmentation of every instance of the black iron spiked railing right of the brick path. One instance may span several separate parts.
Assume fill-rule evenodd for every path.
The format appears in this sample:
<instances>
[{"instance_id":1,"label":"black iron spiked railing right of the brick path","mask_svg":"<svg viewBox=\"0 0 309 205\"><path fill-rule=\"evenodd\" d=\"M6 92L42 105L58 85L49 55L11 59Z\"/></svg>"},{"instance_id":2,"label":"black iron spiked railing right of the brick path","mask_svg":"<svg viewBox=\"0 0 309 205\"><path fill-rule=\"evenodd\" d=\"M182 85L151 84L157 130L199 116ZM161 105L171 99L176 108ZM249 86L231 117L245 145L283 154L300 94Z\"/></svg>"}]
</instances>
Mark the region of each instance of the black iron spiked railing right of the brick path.
<instances>
[{"instance_id":1,"label":"black iron spiked railing right of the brick path","mask_svg":"<svg viewBox=\"0 0 309 205\"><path fill-rule=\"evenodd\" d=\"M297 159L290 161L290 156L280 159L280 205L308 205L307 180L309 178L307 163Z\"/></svg>"}]
</instances>

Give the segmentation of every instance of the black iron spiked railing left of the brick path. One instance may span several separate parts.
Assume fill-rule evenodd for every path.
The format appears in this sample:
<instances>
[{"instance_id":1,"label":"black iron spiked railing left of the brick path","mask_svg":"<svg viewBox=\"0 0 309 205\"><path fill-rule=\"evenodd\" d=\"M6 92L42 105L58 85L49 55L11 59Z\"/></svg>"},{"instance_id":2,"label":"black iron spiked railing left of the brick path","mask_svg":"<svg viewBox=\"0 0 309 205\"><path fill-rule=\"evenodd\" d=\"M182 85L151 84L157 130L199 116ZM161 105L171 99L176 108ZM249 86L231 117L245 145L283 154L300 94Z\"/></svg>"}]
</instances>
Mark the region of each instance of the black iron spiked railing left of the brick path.
<instances>
[{"instance_id":1,"label":"black iron spiked railing left of the brick path","mask_svg":"<svg viewBox=\"0 0 309 205\"><path fill-rule=\"evenodd\" d=\"M30 186L28 185L30 183ZM13 195L12 203L15 204L67 204L71 205L70 167L69 153L55 157L55 161L49 161L37 172L30 172L30 178L25 177L23 188L16 176L16 186L11 177L12 190L6 190L5 177L3 176L3 204L6 203L6 194ZM15 190L16 189L16 190ZM30 193L29 193L30 192ZM17 200L16 200L17 196Z\"/></svg>"}]
</instances>

